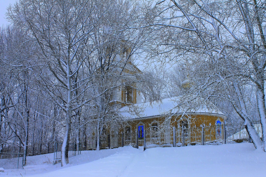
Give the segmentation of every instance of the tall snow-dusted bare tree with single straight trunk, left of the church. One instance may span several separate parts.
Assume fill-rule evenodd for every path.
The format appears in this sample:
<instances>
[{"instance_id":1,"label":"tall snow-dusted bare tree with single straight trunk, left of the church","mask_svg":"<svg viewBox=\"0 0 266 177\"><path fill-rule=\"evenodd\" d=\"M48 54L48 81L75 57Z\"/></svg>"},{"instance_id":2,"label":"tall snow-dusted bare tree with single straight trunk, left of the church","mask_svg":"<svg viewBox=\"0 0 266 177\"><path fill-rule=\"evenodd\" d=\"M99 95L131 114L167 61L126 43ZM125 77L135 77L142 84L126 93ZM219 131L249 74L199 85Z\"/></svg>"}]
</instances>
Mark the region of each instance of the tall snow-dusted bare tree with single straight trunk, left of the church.
<instances>
[{"instance_id":1,"label":"tall snow-dusted bare tree with single straight trunk, left of the church","mask_svg":"<svg viewBox=\"0 0 266 177\"><path fill-rule=\"evenodd\" d=\"M94 1L21 1L9 9L9 19L22 29L28 30L42 52L41 59L52 73L40 76L44 87L65 114L65 135L62 145L61 165L68 164L68 146L73 111L88 100L77 102L82 93L74 95L74 85L83 69L84 61L93 51L90 45L94 25L99 19ZM99 14L101 17L102 14ZM47 77L48 76L48 77ZM88 75L87 78L90 78ZM77 88L76 88L77 89Z\"/></svg>"}]
</instances>

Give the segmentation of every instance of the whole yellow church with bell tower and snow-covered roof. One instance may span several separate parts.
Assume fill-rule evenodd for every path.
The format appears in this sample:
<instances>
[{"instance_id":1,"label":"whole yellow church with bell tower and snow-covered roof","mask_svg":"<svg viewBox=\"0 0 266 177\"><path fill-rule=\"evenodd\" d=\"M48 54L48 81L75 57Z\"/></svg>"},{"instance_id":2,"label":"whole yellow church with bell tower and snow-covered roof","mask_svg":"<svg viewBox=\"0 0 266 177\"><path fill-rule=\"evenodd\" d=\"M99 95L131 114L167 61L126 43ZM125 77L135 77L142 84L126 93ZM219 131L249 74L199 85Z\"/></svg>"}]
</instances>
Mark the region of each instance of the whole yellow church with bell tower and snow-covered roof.
<instances>
[{"instance_id":1,"label":"whole yellow church with bell tower and snow-covered roof","mask_svg":"<svg viewBox=\"0 0 266 177\"><path fill-rule=\"evenodd\" d=\"M135 77L141 71L130 61L122 74ZM123 83L123 82L122 82ZM176 147L225 143L226 116L217 108L206 105L181 107L182 97L142 103L138 84L126 84L114 91L113 103L120 125L103 124L100 144L104 148L131 145L136 148ZM87 149L95 149L97 128Z\"/></svg>"}]
</instances>

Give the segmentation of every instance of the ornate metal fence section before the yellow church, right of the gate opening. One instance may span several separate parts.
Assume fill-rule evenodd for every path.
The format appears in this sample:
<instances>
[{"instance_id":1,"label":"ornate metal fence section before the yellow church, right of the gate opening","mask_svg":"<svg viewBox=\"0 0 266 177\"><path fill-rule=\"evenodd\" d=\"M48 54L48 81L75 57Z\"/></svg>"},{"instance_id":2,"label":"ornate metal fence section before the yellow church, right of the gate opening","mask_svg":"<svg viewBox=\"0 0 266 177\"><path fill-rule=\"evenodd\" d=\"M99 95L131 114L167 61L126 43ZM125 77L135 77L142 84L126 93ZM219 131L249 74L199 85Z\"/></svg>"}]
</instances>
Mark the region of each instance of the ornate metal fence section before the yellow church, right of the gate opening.
<instances>
[{"instance_id":1,"label":"ornate metal fence section before the yellow church, right of the gate opening","mask_svg":"<svg viewBox=\"0 0 266 177\"><path fill-rule=\"evenodd\" d=\"M262 138L260 122L253 125ZM228 143L250 142L243 123L205 125L200 127L168 127L164 129L148 128L144 135L144 149L153 147L180 147L191 145L220 145Z\"/></svg>"}]
</instances>

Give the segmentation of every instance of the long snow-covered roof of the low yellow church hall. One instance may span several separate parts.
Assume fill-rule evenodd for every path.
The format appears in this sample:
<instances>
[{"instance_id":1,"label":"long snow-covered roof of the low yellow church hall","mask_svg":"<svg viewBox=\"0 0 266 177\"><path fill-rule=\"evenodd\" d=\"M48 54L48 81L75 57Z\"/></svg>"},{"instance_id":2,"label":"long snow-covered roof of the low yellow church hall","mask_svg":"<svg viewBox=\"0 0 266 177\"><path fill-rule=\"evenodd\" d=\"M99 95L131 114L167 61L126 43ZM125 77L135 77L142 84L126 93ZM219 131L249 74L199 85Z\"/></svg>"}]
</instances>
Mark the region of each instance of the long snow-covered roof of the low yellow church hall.
<instances>
[{"instance_id":1,"label":"long snow-covered roof of the low yellow church hall","mask_svg":"<svg viewBox=\"0 0 266 177\"><path fill-rule=\"evenodd\" d=\"M182 115L182 114L217 114L224 118L226 116L217 108L209 110L206 105L196 109L179 106L179 97L166 98L161 101L139 103L132 106L124 106L119 109L120 114L128 119L148 118L161 115ZM132 109L133 107L133 109ZM214 107L212 105L212 107ZM135 110L135 111L132 111ZM136 113L139 112L139 113Z\"/></svg>"}]
</instances>

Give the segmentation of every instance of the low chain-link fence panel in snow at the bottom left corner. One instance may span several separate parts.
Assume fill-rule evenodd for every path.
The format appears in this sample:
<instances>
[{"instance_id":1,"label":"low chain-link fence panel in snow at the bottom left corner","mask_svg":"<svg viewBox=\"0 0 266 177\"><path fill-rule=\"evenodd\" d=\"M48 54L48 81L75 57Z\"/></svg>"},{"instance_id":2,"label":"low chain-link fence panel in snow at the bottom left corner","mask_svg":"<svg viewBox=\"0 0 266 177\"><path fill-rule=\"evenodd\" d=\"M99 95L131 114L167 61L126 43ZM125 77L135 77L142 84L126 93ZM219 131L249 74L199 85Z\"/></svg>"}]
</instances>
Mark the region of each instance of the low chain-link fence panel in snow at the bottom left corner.
<instances>
[{"instance_id":1,"label":"low chain-link fence panel in snow at the bottom left corner","mask_svg":"<svg viewBox=\"0 0 266 177\"><path fill-rule=\"evenodd\" d=\"M0 168L22 169L23 153L0 153Z\"/></svg>"}]
</instances>

